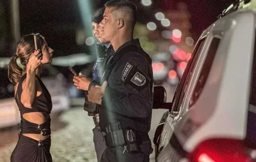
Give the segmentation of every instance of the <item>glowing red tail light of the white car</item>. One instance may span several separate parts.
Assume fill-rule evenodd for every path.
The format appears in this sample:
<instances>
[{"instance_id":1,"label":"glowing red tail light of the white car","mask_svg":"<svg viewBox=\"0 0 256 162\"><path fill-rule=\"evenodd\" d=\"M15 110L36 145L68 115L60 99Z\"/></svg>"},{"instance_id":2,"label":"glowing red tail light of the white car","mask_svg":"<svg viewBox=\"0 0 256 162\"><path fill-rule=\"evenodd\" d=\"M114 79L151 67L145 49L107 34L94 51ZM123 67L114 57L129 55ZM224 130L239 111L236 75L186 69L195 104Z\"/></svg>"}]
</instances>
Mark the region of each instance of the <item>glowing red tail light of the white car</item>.
<instances>
[{"instance_id":1,"label":"glowing red tail light of the white car","mask_svg":"<svg viewBox=\"0 0 256 162\"><path fill-rule=\"evenodd\" d=\"M241 140L210 139L199 144L188 159L191 162L253 161L246 151Z\"/></svg>"}]
</instances>

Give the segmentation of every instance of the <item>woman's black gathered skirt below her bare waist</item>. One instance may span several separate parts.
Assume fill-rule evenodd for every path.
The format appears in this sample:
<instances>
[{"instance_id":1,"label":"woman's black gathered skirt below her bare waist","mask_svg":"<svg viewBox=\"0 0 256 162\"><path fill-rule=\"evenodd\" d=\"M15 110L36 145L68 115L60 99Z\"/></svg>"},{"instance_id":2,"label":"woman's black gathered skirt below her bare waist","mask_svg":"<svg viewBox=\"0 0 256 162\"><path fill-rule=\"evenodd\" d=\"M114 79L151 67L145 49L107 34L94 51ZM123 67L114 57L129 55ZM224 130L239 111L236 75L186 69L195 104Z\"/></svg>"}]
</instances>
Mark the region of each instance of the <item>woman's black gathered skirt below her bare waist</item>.
<instances>
[{"instance_id":1,"label":"woman's black gathered skirt below her bare waist","mask_svg":"<svg viewBox=\"0 0 256 162\"><path fill-rule=\"evenodd\" d=\"M52 162L50 147L51 137L37 141L20 134L11 162Z\"/></svg>"}]
</instances>

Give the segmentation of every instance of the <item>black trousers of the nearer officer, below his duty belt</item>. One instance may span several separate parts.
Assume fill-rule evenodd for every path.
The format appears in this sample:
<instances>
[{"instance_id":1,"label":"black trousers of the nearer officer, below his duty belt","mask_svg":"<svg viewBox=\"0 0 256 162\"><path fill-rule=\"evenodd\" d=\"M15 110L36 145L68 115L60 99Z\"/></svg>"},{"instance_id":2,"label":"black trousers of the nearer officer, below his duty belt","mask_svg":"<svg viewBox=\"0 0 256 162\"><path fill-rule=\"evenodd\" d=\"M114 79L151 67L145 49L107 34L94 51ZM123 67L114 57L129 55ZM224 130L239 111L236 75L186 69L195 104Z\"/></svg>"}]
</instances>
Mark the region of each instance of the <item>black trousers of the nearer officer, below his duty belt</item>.
<instances>
[{"instance_id":1,"label":"black trousers of the nearer officer, below his duty belt","mask_svg":"<svg viewBox=\"0 0 256 162\"><path fill-rule=\"evenodd\" d=\"M149 162L149 154L152 153L150 140L143 141L140 148L141 152L131 154L126 151L124 152L124 147L106 147L102 154L101 162Z\"/></svg>"}]
</instances>

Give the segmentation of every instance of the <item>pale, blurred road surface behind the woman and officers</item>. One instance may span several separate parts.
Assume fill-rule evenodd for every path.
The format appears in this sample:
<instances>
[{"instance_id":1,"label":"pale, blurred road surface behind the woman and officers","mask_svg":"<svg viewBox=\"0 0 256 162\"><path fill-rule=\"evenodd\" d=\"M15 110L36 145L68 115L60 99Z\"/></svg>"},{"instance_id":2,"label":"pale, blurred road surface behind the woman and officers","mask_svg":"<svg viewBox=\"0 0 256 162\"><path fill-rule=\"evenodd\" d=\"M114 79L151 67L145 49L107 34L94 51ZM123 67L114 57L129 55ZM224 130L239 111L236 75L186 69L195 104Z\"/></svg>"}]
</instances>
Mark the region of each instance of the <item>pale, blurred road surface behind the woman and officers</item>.
<instances>
[{"instance_id":1,"label":"pale, blurred road surface behind the woman and officers","mask_svg":"<svg viewBox=\"0 0 256 162\"><path fill-rule=\"evenodd\" d=\"M172 100L174 88L165 86L168 92L168 102ZM73 102L83 105L84 99L75 99ZM154 109L149 137L153 142L154 131L164 112L167 110ZM60 114L52 114L52 145L53 161L97 161L92 140L93 120L87 115L82 106L72 107ZM11 153L18 140L19 129L0 130L0 161L10 161ZM154 146L152 145L152 148ZM154 160L154 151L150 155Z\"/></svg>"}]
</instances>

